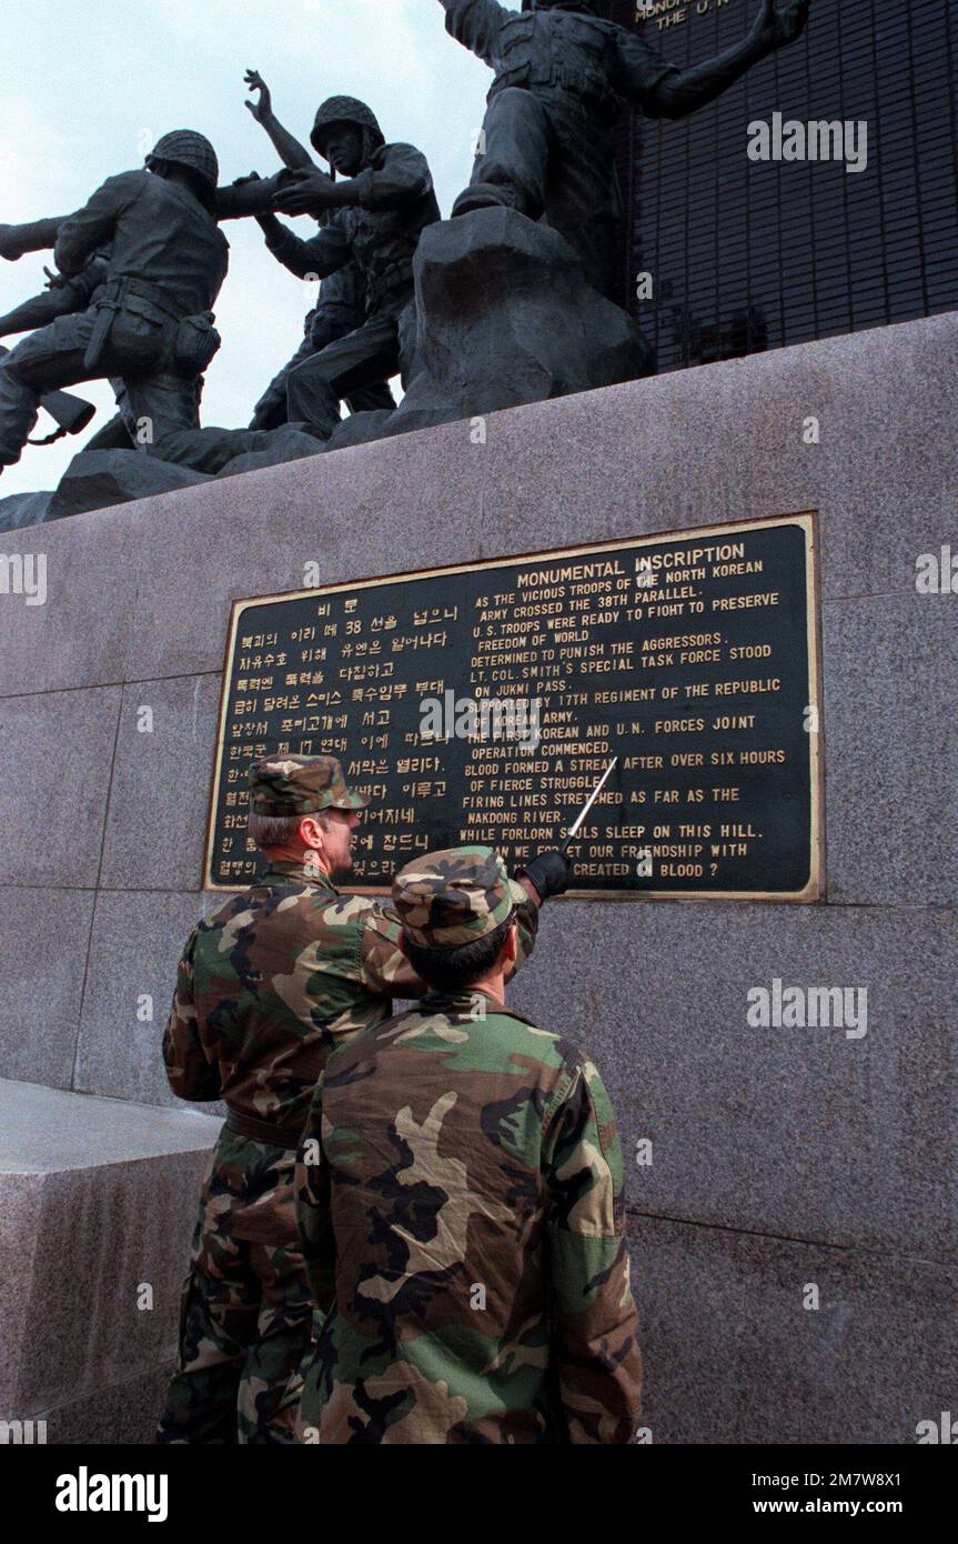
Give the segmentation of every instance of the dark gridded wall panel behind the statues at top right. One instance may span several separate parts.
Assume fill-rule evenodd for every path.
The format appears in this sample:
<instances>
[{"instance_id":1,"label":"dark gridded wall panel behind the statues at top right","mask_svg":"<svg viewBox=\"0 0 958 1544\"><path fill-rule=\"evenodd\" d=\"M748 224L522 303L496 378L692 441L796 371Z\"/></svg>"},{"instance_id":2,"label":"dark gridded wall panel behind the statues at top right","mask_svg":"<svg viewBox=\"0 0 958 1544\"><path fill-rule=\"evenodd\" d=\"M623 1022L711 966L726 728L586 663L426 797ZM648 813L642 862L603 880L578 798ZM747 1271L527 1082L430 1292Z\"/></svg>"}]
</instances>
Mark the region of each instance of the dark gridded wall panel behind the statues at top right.
<instances>
[{"instance_id":1,"label":"dark gridded wall panel behind the statues at top right","mask_svg":"<svg viewBox=\"0 0 958 1544\"><path fill-rule=\"evenodd\" d=\"M609 0L602 14L680 68L737 43L757 0ZM597 9L600 9L597 6ZM659 369L909 321L958 306L958 6L815 0L805 37L682 122L629 114L622 298ZM748 124L867 120L869 165L751 162Z\"/></svg>"}]
</instances>

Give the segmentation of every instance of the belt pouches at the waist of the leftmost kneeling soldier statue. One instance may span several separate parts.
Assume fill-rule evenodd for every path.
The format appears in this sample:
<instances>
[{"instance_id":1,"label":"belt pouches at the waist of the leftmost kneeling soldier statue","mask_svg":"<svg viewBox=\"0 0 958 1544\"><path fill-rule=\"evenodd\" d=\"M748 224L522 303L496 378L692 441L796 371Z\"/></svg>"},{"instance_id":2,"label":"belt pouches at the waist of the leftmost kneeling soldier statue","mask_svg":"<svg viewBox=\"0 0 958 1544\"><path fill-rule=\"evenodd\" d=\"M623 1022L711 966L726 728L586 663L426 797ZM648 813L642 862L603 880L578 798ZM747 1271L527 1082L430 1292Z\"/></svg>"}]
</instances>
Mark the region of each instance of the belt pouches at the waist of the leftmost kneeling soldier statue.
<instances>
[{"instance_id":1,"label":"belt pouches at the waist of the leftmost kneeling soldier statue","mask_svg":"<svg viewBox=\"0 0 958 1544\"><path fill-rule=\"evenodd\" d=\"M173 369L201 375L219 349L213 312L180 317L165 292L145 279L114 278L97 290L96 321L83 357L91 374L110 347L111 375L150 375Z\"/></svg>"}]
</instances>

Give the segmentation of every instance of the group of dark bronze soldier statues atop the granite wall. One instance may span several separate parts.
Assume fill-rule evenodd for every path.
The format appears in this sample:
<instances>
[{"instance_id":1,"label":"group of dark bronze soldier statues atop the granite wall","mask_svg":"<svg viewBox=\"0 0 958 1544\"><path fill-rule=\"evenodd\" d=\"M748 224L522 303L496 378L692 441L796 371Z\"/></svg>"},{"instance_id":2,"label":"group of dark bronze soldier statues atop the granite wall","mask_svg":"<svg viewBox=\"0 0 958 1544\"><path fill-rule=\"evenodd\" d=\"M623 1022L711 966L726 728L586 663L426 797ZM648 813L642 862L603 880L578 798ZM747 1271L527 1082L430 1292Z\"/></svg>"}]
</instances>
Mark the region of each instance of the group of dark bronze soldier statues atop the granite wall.
<instances>
[{"instance_id":1,"label":"group of dark bronze soldier statues atop the granite wall","mask_svg":"<svg viewBox=\"0 0 958 1544\"><path fill-rule=\"evenodd\" d=\"M810 0L761 0L739 45L685 71L588 3L440 5L450 36L494 71L480 150L452 216L500 205L545 221L569 242L586 281L611 296L619 114L693 113L799 37ZM73 215L0 227L2 256L52 247L56 264L46 290L0 318L0 337L29 332L0 360L0 471L20 459L45 398L62 406L51 394L94 378L111 381L117 414L89 449L137 449L208 474L268 451L290 428L322 449L342 403L350 414L390 412L389 381L413 378L423 323L415 255L441 219L426 156L387 142L366 103L333 96L310 134L327 173L276 119L262 77L245 79L256 93L247 107L281 171L221 187L213 145L174 130L143 170L110 178ZM279 215L310 219L313 232L299 235ZM201 428L204 372L221 343L213 307L228 266L222 224L241 218L258 219L284 267L321 279L319 298L248 429ZM71 426L86 417L73 414Z\"/></svg>"}]
</instances>

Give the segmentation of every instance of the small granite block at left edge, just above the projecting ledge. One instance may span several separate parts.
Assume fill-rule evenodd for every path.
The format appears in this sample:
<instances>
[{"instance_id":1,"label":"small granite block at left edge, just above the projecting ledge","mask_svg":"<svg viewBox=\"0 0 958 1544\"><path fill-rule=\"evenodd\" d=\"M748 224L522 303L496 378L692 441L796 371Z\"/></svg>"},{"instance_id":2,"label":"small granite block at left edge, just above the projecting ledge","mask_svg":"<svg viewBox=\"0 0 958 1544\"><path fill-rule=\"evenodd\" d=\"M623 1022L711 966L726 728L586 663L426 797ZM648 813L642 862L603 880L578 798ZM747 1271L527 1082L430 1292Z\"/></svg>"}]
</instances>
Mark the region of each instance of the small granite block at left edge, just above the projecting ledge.
<instances>
[{"instance_id":1,"label":"small granite block at left edge, just above the projecting ledge","mask_svg":"<svg viewBox=\"0 0 958 1544\"><path fill-rule=\"evenodd\" d=\"M0 1078L69 1089L93 903L93 891L6 888Z\"/></svg>"}]
</instances>

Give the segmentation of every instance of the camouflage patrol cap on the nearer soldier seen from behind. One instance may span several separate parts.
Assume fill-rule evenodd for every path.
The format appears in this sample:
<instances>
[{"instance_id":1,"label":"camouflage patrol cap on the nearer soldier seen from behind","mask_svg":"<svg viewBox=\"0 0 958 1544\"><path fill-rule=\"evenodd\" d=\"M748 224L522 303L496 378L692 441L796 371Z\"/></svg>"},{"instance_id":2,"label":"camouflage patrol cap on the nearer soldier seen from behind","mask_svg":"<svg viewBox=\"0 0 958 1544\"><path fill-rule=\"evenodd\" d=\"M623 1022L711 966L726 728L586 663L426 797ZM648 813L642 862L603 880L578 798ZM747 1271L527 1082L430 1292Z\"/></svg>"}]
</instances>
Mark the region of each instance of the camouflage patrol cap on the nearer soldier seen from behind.
<instances>
[{"instance_id":1,"label":"camouflage patrol cap on the nearer soldier seen from behind","mask_svg":"<svg viewBox=\"0 0 958 1544\"><path fill-rule=\"evenodd\" d=\"M449 848L407 863L392 899L410 943L457 950L508 922L526 891L492 848Z\"/></svg>"}]
</instances>

